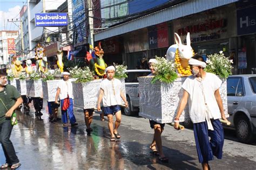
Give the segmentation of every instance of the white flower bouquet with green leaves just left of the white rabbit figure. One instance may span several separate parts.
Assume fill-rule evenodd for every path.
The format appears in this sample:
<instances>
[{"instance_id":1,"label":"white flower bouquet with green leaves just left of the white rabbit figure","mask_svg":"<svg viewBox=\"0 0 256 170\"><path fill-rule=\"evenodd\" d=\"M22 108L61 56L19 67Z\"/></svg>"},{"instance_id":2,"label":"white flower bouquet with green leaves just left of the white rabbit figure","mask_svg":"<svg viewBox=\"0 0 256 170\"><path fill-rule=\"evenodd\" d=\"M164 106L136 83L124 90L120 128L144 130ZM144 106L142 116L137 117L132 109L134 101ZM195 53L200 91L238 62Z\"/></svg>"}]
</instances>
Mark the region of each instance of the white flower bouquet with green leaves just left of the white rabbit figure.
<instances>
[{"instance_id":1,"label":"white flower bouquet with green leaves just left of the white rabbit figure","mask_svg":"<svg viewBox=\"0 0 256 170\"><path fill-rule=\"evenodd\" d=\"M153 77L151 83L157 80L160 82L171 83L177 79L176 63L174 61L167 61L163 57L156 57L157 63L154 64L156 75Z\"/></svg>"}]
</instances>

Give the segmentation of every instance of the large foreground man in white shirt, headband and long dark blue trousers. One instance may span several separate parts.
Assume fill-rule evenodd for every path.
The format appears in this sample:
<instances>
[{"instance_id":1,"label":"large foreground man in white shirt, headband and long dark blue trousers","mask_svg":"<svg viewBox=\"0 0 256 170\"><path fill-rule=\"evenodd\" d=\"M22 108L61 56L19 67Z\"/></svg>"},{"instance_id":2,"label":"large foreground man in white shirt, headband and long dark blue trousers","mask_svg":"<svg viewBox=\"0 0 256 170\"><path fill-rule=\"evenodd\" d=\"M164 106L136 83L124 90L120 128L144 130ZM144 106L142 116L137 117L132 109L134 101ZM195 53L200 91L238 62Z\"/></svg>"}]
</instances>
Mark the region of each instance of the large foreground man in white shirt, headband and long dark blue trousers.
<instances>
[{"instance_id":1,"label":"large foreground man in white shirt, headband and long dark blue trousers","mask_svg":"<svg viewBox=\"0 0 256 170\"><path fill-rule=\"evenodd\" d=\"M187 77L182 85L184 93L174 118L174 128L178 129L179 117L188 100L199 162L207 170L210 169L208 161L213 160L213 155L222 158L224 131L219 118L227 120L219 93L222 81L215 74L204 71L205 62L191 58L188 64L193 75Z\"/></svg>"}]
</instances>

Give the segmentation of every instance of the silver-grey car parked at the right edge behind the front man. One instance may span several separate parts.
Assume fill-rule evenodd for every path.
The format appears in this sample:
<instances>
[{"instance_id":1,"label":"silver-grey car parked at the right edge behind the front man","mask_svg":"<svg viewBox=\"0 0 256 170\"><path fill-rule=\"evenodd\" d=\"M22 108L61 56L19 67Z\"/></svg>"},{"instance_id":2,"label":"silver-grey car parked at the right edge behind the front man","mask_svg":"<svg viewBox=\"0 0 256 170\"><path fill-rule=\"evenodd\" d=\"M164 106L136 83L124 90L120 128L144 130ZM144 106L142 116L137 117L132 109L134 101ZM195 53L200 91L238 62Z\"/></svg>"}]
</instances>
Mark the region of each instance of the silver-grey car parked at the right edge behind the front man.
<instances>
[{"instance_id":1,"label":"silver-grey car parked at the right edge behind the front man","mask_svg":"<svg viewBox=\"0 0 256 170\"><path fill-rule=\"evenodd\" d=\"M239 141L250 143L256 137L256 74L229 76L227 103L231 128Z\"/></svg>"}]
</instances>

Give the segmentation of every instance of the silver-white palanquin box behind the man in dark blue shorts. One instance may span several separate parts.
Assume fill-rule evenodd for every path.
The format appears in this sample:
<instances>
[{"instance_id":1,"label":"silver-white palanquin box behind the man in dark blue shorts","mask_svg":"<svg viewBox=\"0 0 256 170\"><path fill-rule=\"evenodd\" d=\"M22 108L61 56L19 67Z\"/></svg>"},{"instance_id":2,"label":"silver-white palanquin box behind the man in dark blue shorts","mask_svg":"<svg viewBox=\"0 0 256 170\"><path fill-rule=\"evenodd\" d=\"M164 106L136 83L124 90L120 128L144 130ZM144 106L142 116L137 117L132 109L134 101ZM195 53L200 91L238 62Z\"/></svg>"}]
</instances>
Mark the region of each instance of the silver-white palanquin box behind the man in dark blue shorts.
<instances>
[{"instance_id":1,"label":"silver-white palanquin box behind the man in dark blue shorts","mask_svg":"<svg viewBox=\"0 0 256 170\"><path fill-rule=\"evenodd\" d=\"M74 104L85 109L96 108L100 90L100 82L102 82L102 80L103 79L96 79L86 83L72 82ZM125 96L124 79L120 79L120 81L123 84L122 91ZM122 101L122 103L124 104L124 101Z\"/></svg>"}]
</instances>

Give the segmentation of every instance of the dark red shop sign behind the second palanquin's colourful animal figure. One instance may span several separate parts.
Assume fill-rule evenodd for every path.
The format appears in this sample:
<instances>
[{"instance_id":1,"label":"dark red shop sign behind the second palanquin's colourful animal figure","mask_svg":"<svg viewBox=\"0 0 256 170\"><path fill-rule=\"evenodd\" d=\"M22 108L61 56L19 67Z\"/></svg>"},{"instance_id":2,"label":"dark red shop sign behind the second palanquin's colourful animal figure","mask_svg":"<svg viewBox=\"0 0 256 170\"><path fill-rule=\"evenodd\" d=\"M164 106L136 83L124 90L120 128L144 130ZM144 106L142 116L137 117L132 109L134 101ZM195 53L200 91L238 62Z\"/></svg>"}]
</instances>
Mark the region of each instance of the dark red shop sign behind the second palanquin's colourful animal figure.
<instances>
[{"instance_id":1,"label":"dark red shop sign behind the second palanquin's colourful animal figure","mask_svg":"<svg viewBox=\"0 0 256 170\"><path fill-rule=\"evenodd\" d=\"M120 52L119 44L115 39L104 41L102 48L104 54L118 54Z\"/></svg>"}]
</instances>

